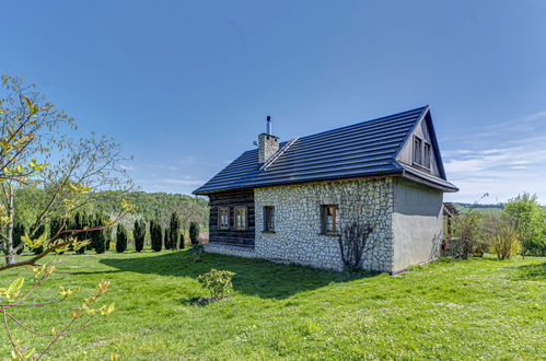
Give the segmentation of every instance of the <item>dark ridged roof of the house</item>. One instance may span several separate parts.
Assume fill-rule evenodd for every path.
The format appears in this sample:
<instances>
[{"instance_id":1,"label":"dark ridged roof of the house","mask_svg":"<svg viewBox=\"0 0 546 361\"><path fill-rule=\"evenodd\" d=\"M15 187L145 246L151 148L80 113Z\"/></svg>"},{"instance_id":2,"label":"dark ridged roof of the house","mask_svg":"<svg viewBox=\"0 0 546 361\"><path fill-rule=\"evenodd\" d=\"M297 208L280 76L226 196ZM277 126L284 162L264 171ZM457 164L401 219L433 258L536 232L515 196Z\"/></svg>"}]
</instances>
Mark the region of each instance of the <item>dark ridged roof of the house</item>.
<instances>
[{"instance_id":1,"label":"dark ridged roof of the house","mask_svg":"<svg viewBox=\"0 0 546 361\"><path fill-rule=\"evenodd\" d=\"M395 160L396 154L427 112L428 106L420 107L299 138L265 170L258 164L258 150L246 151L194 194L403 174L405 168ZM284 145L287 142L280 143L279 149ZM445 179L425 175L456 189Z\"/></svg>"}]
</instances>

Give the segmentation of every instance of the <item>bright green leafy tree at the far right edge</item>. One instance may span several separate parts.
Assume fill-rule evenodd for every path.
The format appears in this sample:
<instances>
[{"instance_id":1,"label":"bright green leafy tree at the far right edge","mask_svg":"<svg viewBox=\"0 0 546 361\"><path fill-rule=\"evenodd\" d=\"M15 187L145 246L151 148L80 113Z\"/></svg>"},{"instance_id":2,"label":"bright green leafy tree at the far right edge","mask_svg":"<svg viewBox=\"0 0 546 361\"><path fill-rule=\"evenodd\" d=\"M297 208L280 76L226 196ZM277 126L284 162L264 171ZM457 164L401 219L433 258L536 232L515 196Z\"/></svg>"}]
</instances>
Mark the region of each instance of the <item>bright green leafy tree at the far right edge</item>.
<instances>
[{"instance_id":1,"label":"bright green leafy tree at the far right edge","mask_svg":"<svg viewBox=\"0 0 546 361\"><path fill-rule=\"evenodd\" d=\"M539 245L546 243L546 218L536 195L523 193L509 199L504 205L503 214L515 230L523 257L530 248L541 248Z\"/></svg>"}]
</instances>

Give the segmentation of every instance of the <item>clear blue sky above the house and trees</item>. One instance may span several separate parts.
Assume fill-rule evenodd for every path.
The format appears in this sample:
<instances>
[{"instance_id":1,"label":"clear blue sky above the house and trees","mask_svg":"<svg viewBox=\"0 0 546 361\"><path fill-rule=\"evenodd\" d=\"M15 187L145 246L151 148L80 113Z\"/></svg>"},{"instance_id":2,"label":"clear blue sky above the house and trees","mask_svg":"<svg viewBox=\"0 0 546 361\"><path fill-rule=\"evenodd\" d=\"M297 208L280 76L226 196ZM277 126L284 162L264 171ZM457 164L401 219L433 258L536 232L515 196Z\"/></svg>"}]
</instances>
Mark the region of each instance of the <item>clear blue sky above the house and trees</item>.
<instances>
[{"instance_id":1,"label":"clear blue sky above the house and trees","mask_svg":"<svg viewBox=\"0 0 546 361\"><path fill-rule=\"evenodd\" d=\"M430 104L448 200L546 202L546 1L11 1L0 72L190 193L281 139Z\"/></svg>"}]
</instances>

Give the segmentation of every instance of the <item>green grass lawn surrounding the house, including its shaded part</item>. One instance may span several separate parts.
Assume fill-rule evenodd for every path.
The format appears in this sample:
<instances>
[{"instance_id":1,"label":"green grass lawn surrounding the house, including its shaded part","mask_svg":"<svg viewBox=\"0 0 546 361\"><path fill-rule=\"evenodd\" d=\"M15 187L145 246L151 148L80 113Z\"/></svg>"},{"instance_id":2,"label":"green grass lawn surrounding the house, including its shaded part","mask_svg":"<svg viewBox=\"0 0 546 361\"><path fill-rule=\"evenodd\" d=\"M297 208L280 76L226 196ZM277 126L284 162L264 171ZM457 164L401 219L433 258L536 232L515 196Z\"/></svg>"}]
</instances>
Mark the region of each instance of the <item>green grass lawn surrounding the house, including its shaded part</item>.
<instances>
[{"instance_id":1,"label":"green grass lawn surrounding the house, including its shaded part","mask_svg":"<svg viewBox=\"0 0 546 361\"><path fill-rule=\"evenodd\" d=\"M546 258L439 260L391 277L187 252L68 255L40 291L109 280L116 311L62 339L59 359L545 359ZM196 281L210 268L236 272L230 299L208 305ZM0 286L26 270L1 273ZM50 293L49 293L50 292ZM68 314L18 315L49 330ZM25 345L42 338L18 331ZM2 354L9 352L2 331Z\"/></svg>"}]
</instances>

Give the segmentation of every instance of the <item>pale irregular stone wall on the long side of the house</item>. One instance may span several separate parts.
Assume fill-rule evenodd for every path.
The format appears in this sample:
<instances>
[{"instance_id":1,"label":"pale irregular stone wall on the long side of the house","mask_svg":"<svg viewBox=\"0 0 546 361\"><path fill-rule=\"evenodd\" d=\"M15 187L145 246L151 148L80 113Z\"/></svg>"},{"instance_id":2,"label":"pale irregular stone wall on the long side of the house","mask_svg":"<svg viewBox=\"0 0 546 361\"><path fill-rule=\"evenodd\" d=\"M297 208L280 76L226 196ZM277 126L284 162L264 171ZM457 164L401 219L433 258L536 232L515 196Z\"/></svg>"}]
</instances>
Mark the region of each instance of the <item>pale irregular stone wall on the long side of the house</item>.
<instances>
[{"instance_id":1,"label":"pale irregular stone wall on the long side of the house","mask_svg":"<svg viewBox=\"0 0 546 361\"><path fill-rule=\"evenodd\" d=\"M336 236L322 234L321 206L338 205L339 229L352 221L375 224L363 268L393 265L393 179L355 179L257 188L255 255L318 268L342 269ZM264 230L264 207L275 207L275 233Z\"/></svg>"}]
</instances>

